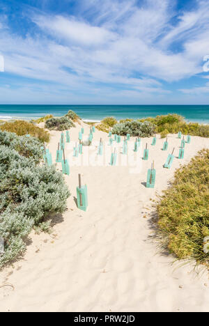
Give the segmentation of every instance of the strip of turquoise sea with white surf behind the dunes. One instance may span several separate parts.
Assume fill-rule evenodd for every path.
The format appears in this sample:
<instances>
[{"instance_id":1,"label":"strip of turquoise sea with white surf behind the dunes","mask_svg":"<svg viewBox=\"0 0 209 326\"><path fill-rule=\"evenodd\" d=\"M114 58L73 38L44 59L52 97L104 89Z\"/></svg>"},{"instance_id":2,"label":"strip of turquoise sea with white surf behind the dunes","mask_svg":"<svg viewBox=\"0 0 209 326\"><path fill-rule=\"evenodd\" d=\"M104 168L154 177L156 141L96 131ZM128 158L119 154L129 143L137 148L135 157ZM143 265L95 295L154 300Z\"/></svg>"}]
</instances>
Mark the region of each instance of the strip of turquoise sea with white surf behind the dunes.
<instances>
[{"instance_id":1,"label":"strip of turquoise sea with white surf behind the dunes","mask_svg":"<svg viewBox=\"0 0 209 326\"><path fill-rule=\"evenodd\" d=\"M47 114L63 116L75 111L85 121L100 121L106 116L144 118L176 113L187 121L209 123L209 105L0 105L0 119L40 118Z\"/></svg>"}]
</instances>

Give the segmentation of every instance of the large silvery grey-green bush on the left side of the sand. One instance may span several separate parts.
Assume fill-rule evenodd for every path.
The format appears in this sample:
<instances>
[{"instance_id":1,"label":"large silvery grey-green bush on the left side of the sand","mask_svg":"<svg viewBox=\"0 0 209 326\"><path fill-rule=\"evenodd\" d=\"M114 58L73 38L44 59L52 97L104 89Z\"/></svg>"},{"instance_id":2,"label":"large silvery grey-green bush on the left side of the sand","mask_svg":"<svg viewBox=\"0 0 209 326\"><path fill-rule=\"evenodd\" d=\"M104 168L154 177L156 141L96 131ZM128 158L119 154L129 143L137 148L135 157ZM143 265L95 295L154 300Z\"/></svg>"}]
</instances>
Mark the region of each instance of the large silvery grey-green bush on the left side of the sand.
<instances>
[{"instance_id":1,"label":"large silvery grey-green bush on the left side of the sand","mask_svg":"<svg viewBox=\"0 0 209 326\"><path fill-rule=\"evenodd\" d=\"M42 143L0 131L0 267L24 254L32 228L49 226L46 217L63 212L70 195L54 166L40 166Z\"/></svg>"}]
</instances>

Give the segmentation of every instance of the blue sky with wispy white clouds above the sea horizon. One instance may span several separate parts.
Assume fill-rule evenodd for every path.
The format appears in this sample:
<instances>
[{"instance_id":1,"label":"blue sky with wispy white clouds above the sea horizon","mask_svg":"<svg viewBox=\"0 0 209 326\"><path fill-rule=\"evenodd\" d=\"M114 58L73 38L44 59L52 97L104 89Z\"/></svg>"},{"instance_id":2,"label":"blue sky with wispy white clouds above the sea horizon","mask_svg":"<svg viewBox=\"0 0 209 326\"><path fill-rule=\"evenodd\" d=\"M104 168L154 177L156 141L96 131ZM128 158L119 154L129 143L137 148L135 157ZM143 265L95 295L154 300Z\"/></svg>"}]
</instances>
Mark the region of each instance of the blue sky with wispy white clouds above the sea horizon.
<instances>
[{"instance_id":1,"label":"blue sky with wispy white clouds above the sea horizon","mask_svg":"<svg viewBox=\"0 0 209 326\"><path fill-rule=\"evenodd\" d=\"M209 104L209 1L0 0L0 104Z\"/></svg>"}]
</instances>

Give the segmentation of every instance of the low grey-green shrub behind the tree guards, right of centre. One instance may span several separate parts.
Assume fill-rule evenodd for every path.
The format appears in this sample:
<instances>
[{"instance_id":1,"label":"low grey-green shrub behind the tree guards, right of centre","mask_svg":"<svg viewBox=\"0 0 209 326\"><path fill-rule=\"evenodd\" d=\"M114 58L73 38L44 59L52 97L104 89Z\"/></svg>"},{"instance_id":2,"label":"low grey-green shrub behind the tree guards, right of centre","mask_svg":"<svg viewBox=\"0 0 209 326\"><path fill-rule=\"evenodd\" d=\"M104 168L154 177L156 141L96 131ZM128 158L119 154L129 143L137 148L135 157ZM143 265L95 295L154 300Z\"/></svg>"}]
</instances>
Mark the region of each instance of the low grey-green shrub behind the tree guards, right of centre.
<instances>
[{"instance_id":1,"label":"low grey-green shrub behind the tree guards, right of centre","mask_svg":"<svg viewBox=\"0 0 209 326\"><path fill-rule=\"evenodd\" d=\"M150 137L155 132L155 126L152 123L139 121L126 121L125 123L117 123L112 128L113 134L120 134L125 136L130 134L133 137Z\"/></svg>"}]
</instances>

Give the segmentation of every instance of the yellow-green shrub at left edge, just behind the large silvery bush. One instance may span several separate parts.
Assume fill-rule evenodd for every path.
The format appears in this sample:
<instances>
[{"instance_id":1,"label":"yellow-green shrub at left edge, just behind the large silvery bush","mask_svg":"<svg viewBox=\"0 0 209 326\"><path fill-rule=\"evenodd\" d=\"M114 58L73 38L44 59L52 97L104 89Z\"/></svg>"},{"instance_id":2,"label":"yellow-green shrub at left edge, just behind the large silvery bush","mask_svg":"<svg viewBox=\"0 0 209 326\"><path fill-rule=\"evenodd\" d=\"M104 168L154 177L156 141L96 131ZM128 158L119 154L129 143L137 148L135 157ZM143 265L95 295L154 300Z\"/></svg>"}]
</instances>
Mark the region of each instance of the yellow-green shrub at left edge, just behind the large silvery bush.
<instances>
[{"instance_id":1,"label":"yellow-green shrub at left edge, just behind the large silvery bush","mask_svg":"<svg viewBox=\"0 0 209 326\"><path fill-rule=\"evenodd\" d=\"M28 121L17 120L13 122L6 122L0 125L0 130L6 132L15 132L18 136L23 136L24 134L30 134L32 137L38 138L42 142L49 142L50 135L49 132L40 128Z\"/></svg>"}]
</instances>

